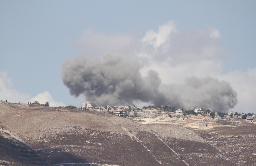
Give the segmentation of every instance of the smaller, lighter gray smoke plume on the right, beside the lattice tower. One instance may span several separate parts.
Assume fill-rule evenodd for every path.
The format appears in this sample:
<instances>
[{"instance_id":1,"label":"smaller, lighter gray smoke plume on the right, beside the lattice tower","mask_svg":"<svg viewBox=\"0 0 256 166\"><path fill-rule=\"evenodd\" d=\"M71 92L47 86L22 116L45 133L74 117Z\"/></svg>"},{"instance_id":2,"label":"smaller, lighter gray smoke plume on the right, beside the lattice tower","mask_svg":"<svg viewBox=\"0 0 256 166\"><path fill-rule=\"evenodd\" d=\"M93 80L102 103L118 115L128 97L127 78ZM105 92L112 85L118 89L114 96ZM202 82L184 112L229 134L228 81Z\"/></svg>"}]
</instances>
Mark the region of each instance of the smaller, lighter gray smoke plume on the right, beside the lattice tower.
<instances>
[{"instance_id":1,"label":"smaller, lighter gray smoke plume on the right, beside the lattice tower","mask_svg":"<svg viewBox=\"0 0 256 166\"><path fill-rule=\"evenodd\" d=\"M237 93L230 83L210 76L199 79L187 77L184 84L162 84L159 86L159 101L173 103L179 108L193 109L203 107L211 111L229 111L231 108L231 95L235 96L233 103L237 104ZM162 102L163 103L163 102ZM176 107L176 108L177 108Z\"/></svg>"}]
</instances>

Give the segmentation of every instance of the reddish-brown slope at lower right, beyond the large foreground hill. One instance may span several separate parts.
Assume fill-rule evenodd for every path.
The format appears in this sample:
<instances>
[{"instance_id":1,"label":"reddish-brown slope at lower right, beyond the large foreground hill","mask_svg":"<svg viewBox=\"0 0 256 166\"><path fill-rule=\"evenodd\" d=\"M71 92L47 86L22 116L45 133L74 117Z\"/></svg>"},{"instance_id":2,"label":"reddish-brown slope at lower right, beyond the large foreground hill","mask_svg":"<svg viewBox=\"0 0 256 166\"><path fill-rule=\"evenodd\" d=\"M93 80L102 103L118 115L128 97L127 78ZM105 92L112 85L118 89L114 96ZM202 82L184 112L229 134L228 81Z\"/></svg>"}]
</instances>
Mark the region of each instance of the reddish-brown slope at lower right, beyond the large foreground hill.
<instances>
[{"instance_id":1,"label":"reddish-brown slope at lower right, beyond the large foreground hill","mask_svg":"<svg viewBox=\"0 0 256 166\"><path fill-rule=\"evenodd\" d=\"M256 166L256 124L239 123L194 130L239 166Z\"/></svg>"}]
</instances>

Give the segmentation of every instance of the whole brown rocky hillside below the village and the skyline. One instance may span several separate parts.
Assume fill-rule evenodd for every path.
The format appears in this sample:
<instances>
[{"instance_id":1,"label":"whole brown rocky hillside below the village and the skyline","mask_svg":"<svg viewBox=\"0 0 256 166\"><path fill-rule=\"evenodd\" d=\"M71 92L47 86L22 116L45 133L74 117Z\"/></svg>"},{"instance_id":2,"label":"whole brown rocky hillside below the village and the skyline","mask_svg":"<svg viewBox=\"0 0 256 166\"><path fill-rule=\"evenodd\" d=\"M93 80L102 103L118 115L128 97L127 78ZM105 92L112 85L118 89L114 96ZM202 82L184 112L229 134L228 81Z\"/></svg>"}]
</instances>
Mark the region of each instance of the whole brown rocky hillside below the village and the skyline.
<instances>
[{"instance_id":1,"label":"whole brown rocky hillside below the village and the skyline","mask_svg":"<svg viewBox=\"0 0 256 166\"><path fill-rule=\"evenodd\" d=\"M237 133L231 136L235 134L231 127L216 119L200 128L198 122L205 121L201 117L175 122L165 113L144 114L158 117L124 118L100 111L0 102L0 160L56 166L250 166L256 161L255 133L235 130L255 128L255 124L235 121L230 126ZM247 142L239 145L243 139Z\"/></svg>"}]
</instances>

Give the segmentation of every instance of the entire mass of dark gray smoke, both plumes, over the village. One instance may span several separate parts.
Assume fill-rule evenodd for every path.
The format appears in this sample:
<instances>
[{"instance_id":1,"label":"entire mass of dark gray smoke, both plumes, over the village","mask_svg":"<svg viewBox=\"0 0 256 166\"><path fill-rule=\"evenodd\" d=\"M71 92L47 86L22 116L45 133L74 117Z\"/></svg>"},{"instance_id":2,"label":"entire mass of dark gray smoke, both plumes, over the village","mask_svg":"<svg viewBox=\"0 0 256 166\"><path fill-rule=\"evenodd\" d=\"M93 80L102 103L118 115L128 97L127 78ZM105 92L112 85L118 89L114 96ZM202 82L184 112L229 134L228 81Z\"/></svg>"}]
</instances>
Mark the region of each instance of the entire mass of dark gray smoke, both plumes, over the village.
<instances>
[{"instance_id":1,"label":"entire mass of dark gray smoke, both plumes, over the village","mask_svg":"<svg viewBox=\"0 0 256 166\"><path fill-rule=\"evenodd\" d=\"M236 92L225 81L212 77L189 77L185 84L161 84L159 75L149 70L140 74L142 65L133 59L116 55L103 58L75 57L62 64L62 80L70 94L84 94L97 105L133 105L136 101L155 105L175 105L192 109L195 106L214 111L228 111Z\"/></svg>"}]
</instances>

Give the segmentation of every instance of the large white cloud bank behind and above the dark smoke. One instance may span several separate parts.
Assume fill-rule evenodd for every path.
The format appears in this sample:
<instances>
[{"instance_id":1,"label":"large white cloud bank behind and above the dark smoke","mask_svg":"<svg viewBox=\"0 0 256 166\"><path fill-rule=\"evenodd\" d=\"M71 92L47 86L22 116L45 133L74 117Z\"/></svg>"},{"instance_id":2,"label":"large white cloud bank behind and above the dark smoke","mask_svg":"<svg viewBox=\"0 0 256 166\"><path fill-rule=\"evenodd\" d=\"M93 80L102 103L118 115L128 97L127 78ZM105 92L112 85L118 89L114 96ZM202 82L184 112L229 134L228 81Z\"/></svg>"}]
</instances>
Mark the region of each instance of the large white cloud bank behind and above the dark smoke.
<instances>
[{"instance_id":1,"label":"large white cloud bank behind and above the dark smoke","mask_svg":"<svg viewBox=\"0 0 256 166\"><path fill-rule=\"evenodd\" d=\"M107 44L104 45L106 41ZM186 77L191 76L200 80L211 76L218 78L220 83L221 80L226 80L238 93L239 102L235 109L246 112L255 108L251 101L256 96L256 92L251 90L256 84L253 74L255 70L222 74L226 52L221 44L221 34L214 27L187 32L178 30L176 23L169 21L156 31L146 31L144 36L132 33L96 33L88 29L76 44L87 50L86 53L132 56L143 64L140 68L142 76L145 77L148 70L153 69L159 74L162 83L167 85L184 85Z\"/></svg>"}]
</instances>

